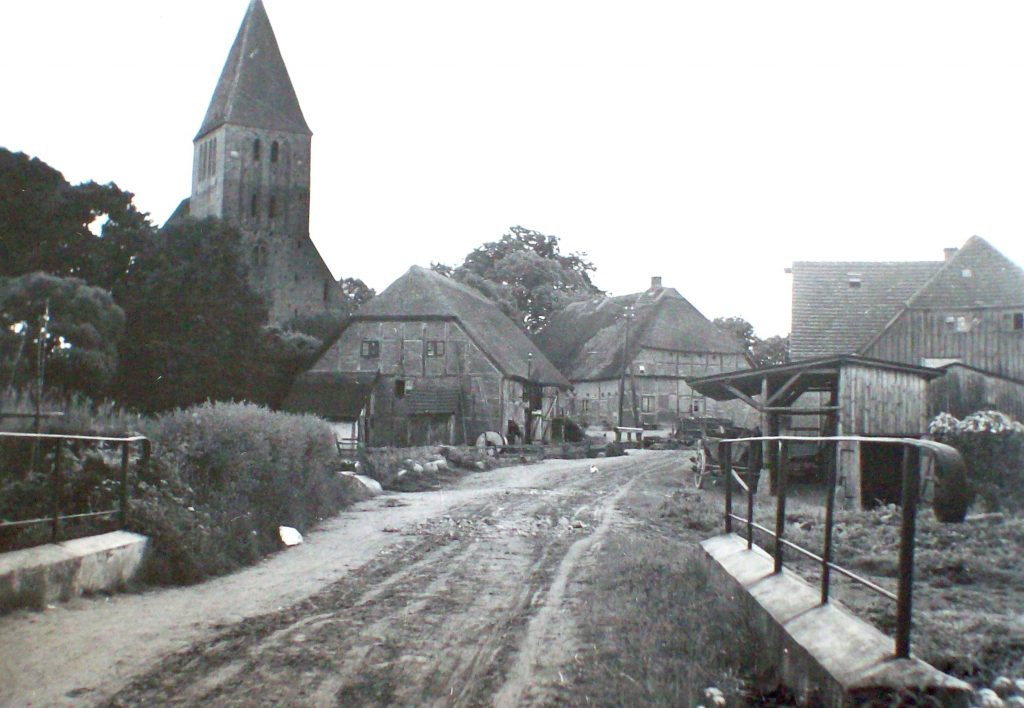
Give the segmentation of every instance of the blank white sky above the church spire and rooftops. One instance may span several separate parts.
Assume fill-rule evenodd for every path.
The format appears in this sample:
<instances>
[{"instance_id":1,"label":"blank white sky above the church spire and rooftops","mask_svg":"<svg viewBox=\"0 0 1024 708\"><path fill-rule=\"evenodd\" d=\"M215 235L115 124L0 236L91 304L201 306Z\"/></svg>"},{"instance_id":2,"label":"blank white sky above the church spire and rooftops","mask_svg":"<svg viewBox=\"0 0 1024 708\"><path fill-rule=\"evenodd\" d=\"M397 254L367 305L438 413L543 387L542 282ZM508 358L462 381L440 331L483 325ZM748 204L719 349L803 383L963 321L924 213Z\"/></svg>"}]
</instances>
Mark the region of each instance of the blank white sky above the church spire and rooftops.
<instances>
[{"instance_id":1,"label":"blank white sky above the church spire and rooftops","mask_svg":"<svg viewBox=\"0 0 1024 708\"><path fill-rule=\"evenodd\" d=\"M795 260L1024 263L1024 4L264 0L310 232L383 290L520 224L790 330ZM0 3L0 147L163 223L248 0Z\"/></svg>"}]
</instances>

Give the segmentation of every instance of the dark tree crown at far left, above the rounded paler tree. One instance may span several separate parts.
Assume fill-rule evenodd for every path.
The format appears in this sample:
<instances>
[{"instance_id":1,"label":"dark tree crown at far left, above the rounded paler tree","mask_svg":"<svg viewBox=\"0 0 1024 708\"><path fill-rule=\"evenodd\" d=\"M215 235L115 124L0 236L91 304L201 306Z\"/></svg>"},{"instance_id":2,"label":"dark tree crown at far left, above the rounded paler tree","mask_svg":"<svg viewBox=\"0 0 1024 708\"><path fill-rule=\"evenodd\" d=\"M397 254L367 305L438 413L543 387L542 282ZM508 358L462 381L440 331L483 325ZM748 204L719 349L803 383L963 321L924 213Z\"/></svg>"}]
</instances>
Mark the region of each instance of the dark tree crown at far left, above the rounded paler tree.
<instances>
[{"instance_id":1,"label":"dark tree crown at far left, above the rounded paler tree","mask_svg":"<svg viewBox=\"0 0 1024 708\"><path fill-rule=\"evenodd\" d=\"M114 183L72 185L38 158L0 149L0 276L41 270L116 290L154 234L132 199Z\"/></svg>"}]
</instances>

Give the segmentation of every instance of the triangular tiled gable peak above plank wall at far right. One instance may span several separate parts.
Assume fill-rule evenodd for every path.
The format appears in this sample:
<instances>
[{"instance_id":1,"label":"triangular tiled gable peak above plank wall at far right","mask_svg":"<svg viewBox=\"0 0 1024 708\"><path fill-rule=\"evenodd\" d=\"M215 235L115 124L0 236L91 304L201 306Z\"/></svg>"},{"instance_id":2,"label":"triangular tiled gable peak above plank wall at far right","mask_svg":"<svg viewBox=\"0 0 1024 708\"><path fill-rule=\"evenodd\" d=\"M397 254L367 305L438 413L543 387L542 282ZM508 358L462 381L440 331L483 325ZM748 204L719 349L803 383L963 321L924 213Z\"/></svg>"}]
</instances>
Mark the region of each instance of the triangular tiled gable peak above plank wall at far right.
<instances>
[{"instance_id":1,"label":"triangular tiled gable peak above plank wall at far right","mask_svg":"<svg viewBox=\"0 0 1024 708\"><path fill-rule=\"evenodd\" d=\"M971 237L909 299L909 307L1019 307L1024 269L980 236Z\"/></svg>"}]
</instances>

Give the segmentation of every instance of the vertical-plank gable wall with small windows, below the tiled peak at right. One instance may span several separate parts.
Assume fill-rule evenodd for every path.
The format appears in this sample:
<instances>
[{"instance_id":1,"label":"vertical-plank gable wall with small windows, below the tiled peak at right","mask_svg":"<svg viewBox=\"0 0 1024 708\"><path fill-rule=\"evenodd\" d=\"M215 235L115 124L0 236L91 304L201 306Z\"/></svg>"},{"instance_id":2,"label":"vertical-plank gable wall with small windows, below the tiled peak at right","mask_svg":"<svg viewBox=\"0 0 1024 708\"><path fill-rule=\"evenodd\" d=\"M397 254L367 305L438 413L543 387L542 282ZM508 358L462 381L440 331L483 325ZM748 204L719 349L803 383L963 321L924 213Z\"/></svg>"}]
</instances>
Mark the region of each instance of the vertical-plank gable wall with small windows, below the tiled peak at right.
<instances>
[{"instance_id":1,"label":"vertical-plank gable wall with small windows, below the tiled peak at right","mask_svg":"<svg viewBox=\"0 0 1024 708\"><path fill-rule=\"evenodd\" d=\"M1000 376L1024 379L1024 332L1008 326L1008 315L1014 311L1020 309L906 310L863 353L918 366L924 359L958 359ZM956 331L955 318L965 319L968 331Z\"/></svg>"}]
</instances>

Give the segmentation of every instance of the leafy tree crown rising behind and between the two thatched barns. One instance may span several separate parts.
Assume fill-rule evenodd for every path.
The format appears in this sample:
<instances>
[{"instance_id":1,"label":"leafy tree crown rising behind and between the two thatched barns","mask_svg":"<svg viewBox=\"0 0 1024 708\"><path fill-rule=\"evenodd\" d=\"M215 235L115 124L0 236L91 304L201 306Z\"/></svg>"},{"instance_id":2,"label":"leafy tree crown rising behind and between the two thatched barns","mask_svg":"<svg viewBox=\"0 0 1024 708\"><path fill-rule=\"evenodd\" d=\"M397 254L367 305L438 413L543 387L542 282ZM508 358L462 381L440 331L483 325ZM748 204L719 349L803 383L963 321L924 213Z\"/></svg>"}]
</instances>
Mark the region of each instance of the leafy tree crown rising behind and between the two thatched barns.
<instances>
[{"instance_id":1,"label":"leafy tree crown rising behind and between the two thatched barns","mask_svg":"<svg viewBox=\"0 0 1024 708\"><path fill-rule=\"evenodd\" d=\"M473 249L461 265L431 267L476 288L528 332L544 329L568 303L602 294L590 279L595 267L586 253L563 255L558 237L522 226L509 232Z\"/></svg>"}]
</instances>

